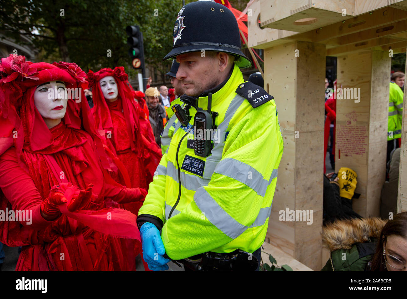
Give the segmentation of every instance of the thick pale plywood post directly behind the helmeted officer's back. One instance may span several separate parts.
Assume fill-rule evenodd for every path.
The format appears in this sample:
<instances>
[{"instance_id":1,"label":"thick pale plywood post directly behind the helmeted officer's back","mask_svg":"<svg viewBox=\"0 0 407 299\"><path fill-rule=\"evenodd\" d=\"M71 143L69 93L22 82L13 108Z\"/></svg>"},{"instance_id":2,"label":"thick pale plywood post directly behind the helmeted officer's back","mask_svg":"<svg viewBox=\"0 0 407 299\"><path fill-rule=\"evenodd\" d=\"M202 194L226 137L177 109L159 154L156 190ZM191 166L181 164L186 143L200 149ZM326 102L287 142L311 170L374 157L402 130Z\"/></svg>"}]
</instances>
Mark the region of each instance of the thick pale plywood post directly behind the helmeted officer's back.
<instances>
[{"instance_id":1,"label":"thick pale plywood post directly behind the helmeted officer's back","mask_svg":"<svg viewBox=\"0 0 407 299\"><path fill-rule=\"evenodd\" d=\"M266 241L318 271L322 268L325 59L324 45L292 41L266 49L264 64L265 89L276 101L284 140ZM281 221L287 209L312 211L312 224Z\"/></svg>"}]
</instances>

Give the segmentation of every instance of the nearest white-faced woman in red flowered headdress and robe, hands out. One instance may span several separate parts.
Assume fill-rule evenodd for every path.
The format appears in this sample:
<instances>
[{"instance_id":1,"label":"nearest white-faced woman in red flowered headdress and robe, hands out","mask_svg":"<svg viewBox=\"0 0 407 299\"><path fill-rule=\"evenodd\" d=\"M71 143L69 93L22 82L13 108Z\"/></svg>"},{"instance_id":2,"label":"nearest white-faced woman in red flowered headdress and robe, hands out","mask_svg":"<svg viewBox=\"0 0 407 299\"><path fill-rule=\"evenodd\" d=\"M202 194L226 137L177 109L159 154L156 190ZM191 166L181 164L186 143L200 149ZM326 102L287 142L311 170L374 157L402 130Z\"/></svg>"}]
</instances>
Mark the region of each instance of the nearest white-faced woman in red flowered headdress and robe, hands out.
<instances>
[{"instance_id":1,"label":"nearest white-faced woman in red flowered headdress and robe, hands out","mask_svg":"<svg viewBox=\"0 0 407 299\"><path fill-rule=\"evenodd\" d=\"M118 203L147 192L116 183L75 63L0 63L0 241L22 246L16 271L135 270L140 236ZM17 214L17 213L16 213Z\"/></svg>"}]
</instances>

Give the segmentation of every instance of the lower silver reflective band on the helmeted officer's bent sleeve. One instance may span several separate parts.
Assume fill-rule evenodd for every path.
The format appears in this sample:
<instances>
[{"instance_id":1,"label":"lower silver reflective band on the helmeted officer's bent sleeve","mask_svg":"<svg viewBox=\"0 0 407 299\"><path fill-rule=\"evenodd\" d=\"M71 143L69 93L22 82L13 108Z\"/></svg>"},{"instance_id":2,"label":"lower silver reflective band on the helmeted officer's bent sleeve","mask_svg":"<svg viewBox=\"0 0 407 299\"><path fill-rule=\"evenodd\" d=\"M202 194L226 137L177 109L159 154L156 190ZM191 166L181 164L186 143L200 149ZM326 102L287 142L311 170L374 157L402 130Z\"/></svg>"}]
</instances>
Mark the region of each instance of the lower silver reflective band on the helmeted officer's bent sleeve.
<instances>
[{"instance_id":1,"label":"lower silver reflective band on the helmeted officer's bent sleeve","mask_svg":"<svg viewBox=\"0 0 407 299\"><path fill-rule=\"evenodd\" d=\"M199 188L197 192L195 192L194 201L210 223L232 239L239 237L249 227L265 224L271 212L271 206L260 209L252 225L246 226L237 222L232 216L225 212L204 187Z\"/></svg>"}]
</instances>

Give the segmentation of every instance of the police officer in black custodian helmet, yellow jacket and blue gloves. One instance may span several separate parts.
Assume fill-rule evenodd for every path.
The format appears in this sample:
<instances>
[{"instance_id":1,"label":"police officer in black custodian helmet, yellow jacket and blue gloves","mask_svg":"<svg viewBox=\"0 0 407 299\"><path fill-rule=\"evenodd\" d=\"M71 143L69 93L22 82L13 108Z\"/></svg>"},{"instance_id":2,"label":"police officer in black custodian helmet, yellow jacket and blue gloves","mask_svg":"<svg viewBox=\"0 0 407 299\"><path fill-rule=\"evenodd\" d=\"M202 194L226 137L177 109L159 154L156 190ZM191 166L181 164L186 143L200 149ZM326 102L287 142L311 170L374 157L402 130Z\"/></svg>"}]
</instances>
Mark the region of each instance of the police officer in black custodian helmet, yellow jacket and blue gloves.
<instances>
[{"instance_id":1,"label":"police officer in black custodian helmet, yellow jacket and blue gloves","mask_svg":"<svg viewBox=\"0 0 407 299\"><path fill-rule=\"evenodd\" d=\"M252 63L228 8L187 4L173 34L163 60L176 57L186 94L171 106L174 130L139 210L144 259L151 270L173 260L186 270L255 271L283 152L276 104L243 80L239 68Z\"/></svg>"}]
</instances>

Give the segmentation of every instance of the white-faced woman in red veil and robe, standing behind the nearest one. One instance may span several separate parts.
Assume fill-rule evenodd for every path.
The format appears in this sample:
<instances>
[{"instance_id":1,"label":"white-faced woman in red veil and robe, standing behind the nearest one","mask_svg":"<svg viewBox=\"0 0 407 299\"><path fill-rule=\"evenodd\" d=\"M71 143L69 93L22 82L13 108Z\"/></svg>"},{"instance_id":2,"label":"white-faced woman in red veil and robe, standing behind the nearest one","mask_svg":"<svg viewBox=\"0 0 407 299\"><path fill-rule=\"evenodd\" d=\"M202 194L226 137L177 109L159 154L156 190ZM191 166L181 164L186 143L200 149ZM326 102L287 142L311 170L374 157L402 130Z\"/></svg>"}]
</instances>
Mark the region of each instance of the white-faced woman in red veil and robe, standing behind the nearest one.
<instances>
[{"instance_id":1,"label":"white-faced woman in red veil and robe, standing behind the nearest one","mask_svg":"<svg viewBox=\"0 0 407 299\"><path fill-rule=\"evenodd\" d=\"M147 189L162 153L155 143L144 94L131 88L123 67L90 70L86 78L92 87L96 126L129 174L129 182L123 177L119 182ZM123 208L137 215L141 205L136 202L124 204Z\"/></svg>"}]
</instances>

